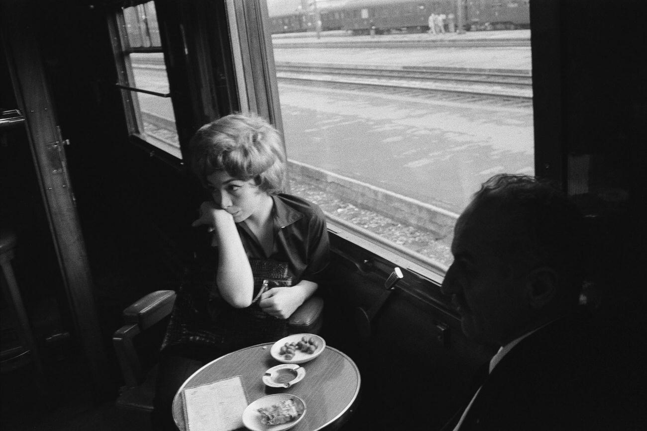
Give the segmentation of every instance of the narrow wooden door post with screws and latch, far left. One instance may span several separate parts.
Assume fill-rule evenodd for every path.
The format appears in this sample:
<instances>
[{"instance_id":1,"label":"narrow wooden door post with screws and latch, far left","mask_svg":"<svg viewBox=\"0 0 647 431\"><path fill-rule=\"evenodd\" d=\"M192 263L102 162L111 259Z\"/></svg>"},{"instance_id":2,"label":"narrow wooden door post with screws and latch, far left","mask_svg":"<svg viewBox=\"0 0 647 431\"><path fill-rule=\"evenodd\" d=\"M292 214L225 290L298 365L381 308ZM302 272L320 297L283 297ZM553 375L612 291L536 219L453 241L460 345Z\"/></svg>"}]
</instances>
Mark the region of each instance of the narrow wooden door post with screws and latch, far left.
<instances>
[{"instance_id":1,"label":"narrow wooden door post with screws and latch, far left","mask_svg":"<svg viewBox=\"0 0 647 431\"><path fill-rule=\"evenodd\" d=\"M58 255L74 329L95 387L107 388L105 353L98 326L93 281L80 229L63 139L50 99L38 45L32 1L3 3L1 26L18 103L27 119L41 194Z\"/></svg>"}]
</instances>

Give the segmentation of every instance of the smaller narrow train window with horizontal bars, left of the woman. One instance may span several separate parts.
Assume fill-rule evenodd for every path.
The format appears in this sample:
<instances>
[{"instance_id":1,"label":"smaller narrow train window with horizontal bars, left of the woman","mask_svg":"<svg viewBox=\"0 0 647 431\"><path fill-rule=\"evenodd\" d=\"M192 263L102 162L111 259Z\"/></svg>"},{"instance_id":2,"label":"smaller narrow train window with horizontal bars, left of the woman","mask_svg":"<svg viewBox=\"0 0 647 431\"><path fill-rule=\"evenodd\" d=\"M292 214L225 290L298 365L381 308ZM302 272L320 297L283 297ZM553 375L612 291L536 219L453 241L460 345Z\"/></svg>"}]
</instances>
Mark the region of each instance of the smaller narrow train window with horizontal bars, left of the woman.
<instances>
[{"instance_id":1,"label":"smaller narrow train window with horizontal bars, left of the woman","mask_svg":"<svg viewBox=\"0 0 647 431\"><path fill-rule=\"evenodd\" d=\"M121 8L111 31L129 132L182 158L155 3Z\"/></svg>"}]
</instances>

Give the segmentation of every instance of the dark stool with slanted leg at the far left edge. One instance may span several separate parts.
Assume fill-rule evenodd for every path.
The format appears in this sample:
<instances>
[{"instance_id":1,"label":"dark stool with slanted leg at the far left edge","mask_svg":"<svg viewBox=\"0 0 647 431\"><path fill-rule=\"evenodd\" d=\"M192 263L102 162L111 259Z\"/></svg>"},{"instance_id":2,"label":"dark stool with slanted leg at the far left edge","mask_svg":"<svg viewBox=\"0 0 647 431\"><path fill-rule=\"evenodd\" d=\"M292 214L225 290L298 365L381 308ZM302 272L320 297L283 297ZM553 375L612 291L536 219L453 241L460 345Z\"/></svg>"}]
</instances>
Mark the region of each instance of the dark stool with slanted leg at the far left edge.
<instances>
[{"instance_id":1,"label":"dark stool with slanted leg at the far left edge","mask_svg":"<svg viewBox=\"0 0 647 431\"><path fill-rule=\"evenodd\" d=\"M43 366L34 340L34 333L29 324L29 318L27 317L27 311L25 310L25 304L23 304L23 298L20 294L20 289L18 288L14 270L11 267L11 260L14 258L14 248L16 247L16 244L17 236L14 231L10 229L0 229L0 266L2 266L2 272L8 286L8 296L10 297L14 310L16 311L16 317L18 318L18 323L20 325L20 330L18 331L19 338L23 344L21 348L14 348L8 352L2 352L3 368L5 368L5 364L21 357L25 357L31 353L34 364L36 365L36 370L39 373L42 373ZM5 355L7 356L6 358Z\"/></svg>"}]
</instances>

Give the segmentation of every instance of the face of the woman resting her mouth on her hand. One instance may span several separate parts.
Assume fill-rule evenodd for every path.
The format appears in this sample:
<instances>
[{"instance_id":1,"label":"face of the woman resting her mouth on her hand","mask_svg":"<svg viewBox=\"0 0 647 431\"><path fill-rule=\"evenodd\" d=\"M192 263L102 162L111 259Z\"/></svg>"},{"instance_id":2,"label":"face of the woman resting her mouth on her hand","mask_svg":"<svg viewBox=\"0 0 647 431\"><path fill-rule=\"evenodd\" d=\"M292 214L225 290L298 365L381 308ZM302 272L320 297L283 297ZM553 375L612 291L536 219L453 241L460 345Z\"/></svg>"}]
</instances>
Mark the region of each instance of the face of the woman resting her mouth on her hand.
<instances>
[{"instance_id":1,"label":"face of the woman resting her mouth on her hand","mask_svg":"<svg viewBox=\"0 0 647 431\"><path fill-rule=\"evenodd\" d=\"M270 197L254 180L234 178L226 171L215 171L206 180L215 204L234 216L236 223L254 215Z\"/></svg>"}]
</instances>

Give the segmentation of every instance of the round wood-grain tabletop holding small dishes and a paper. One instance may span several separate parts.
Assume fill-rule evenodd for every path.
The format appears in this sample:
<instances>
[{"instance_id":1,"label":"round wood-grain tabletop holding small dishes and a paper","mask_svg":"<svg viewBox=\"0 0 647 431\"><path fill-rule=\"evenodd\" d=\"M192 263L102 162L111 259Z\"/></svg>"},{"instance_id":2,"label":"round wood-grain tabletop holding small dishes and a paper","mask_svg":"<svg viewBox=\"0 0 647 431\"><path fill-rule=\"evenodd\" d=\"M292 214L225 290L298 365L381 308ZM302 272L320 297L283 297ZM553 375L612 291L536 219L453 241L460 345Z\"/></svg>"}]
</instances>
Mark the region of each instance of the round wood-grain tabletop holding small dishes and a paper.
<instances>
[{"instance_id":1,"label":"round wood-grain tabletop holding small dishes and a paper","mask_svg":"<svg viewBox=\"0 0 647 431\"><path fill-rule=\"evenodd\" d=\"M360 372L347 355L326 346L323 352L304 364L305 377L291 388L265 386L261 377L265 371L280 364L270 355L273 343L257 344L228 353L206 364L189 377L173 399L173 419L186 431L182 391L236 375L242 376L248 403L265 395L284 393L300 397L307 406L306 414L294 431L331 430L341 426L355 410L360 390Z\"/></svg>"}]
</instances>

